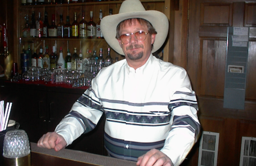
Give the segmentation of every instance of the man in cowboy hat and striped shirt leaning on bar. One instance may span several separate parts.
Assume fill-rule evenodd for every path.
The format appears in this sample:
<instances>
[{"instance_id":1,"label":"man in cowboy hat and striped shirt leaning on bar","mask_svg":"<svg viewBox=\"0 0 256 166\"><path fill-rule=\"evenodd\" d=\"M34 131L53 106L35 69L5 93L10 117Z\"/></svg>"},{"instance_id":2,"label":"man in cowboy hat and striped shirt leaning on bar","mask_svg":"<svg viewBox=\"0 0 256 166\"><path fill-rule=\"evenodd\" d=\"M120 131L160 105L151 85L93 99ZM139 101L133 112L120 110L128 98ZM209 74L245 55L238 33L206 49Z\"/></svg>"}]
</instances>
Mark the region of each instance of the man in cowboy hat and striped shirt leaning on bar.
<instances>
[{"instance_id":1,"label":"man in cowboy hat and striped shirt leaning on bar","mask_svg":"<svg viewBox=\"0 0 256 166\"><path fill-rule=\"evenodd\" d=\"M200 124L186 71L152 55L163 45L168 24L163 13L145 11L139 0L126 0L119 14L104 17L105 40L126 59L103 68L38 146L58 151L91 131L105 113L110 156L140 166L179 165L196 142Z\"/></svg>"}]
</instances>

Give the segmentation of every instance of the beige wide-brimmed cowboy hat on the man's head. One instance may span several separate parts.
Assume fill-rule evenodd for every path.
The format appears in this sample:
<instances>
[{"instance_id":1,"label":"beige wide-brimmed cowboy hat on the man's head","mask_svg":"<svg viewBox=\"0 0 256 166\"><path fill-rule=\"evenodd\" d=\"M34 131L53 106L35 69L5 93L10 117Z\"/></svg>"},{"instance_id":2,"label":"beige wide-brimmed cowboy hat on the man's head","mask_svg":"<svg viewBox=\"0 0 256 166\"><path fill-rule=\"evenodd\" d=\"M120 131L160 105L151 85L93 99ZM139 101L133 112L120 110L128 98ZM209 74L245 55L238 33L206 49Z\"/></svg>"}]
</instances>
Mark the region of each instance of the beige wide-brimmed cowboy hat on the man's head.
<instances>
[{"instance_id":1,"label":"beige wide-brimmed cowboy hat on the man's head","mask_svg":"<svg viewBox=\"0 0 256 166\"><path fill-rule=\"evenodd\" d=\"M121 4L118 14L108 15L101 20L101 32L109 46L117 53L124 55L124 51L116 39L116 27L121 21L131 18L146 19L152 24L157 32L152 53L160 49L168 34L169 21L160 11L146 11L140 0L125 0Z\"/></svg>"}]
</instances>

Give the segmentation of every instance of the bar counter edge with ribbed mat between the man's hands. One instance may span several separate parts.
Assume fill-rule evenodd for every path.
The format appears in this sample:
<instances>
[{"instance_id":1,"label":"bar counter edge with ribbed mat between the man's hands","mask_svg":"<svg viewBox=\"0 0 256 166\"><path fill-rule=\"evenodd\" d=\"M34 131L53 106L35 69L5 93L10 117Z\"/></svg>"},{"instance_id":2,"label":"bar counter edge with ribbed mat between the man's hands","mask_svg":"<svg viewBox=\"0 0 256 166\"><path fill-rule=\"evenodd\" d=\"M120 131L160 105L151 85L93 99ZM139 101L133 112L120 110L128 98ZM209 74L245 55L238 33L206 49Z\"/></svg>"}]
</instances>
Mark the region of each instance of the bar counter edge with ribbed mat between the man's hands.
<instances>
[{"instance_id":1,"label":"bar counter edge with ribbed mat between the man's hands","mask_svg":"<svg viewBox=\"0 0 256 166\"><path fill-rule=\"evenodd\" d=\"M83 151L37 147L30 143L31 166L136 166L136 162L95 155Z\"/></svg>"}]
</instances>

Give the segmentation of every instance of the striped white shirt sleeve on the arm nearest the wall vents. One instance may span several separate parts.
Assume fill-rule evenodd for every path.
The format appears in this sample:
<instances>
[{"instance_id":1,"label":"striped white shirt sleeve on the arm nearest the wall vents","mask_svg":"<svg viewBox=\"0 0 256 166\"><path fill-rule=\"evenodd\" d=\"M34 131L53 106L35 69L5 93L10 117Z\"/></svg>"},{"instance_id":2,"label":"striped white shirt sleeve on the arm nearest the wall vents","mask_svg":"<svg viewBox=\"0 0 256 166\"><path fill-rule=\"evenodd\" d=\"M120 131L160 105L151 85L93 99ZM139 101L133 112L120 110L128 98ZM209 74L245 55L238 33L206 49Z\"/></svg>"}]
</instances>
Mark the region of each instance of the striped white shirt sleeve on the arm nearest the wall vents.
<instances>
[{"instance_id":1,"label":"striped white shirt sleeve on the arm nearest the wall vents","mask_svg":"<svg viewBox=\"0 0 256 166\"><path fill-rule=\"evenodd\" d=\"M171 129L161 151L180 165L197 141L200 123L197 117L197 101L187 72L183 70L176 77L175 91L171 92L168 105L171 111Z\"/></svg>"}]
</instances>

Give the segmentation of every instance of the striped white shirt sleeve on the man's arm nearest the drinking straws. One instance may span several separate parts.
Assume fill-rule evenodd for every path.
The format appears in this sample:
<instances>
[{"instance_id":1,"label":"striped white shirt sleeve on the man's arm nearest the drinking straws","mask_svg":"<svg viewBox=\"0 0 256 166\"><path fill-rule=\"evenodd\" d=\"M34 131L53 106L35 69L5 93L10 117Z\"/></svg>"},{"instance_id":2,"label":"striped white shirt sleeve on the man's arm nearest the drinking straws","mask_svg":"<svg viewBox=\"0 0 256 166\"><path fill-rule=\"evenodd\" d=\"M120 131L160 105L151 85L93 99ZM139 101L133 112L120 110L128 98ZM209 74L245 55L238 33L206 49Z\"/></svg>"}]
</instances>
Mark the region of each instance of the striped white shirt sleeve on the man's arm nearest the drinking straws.
<instances>
[{"instance_id":1,"label":"striped white shirt sleeve on the man's arm nearest the drinking straws","mask_svg":"<svg viewBox=\"0 0 256 166\"><path fill-rule=\"evenodd\" d=\"M97 91L97 77L92 79L92 87L73 104L70 112L57 125L55 132L70 145L82 133L93 130L103 114Z\"/></svg>"}]
</instances>

